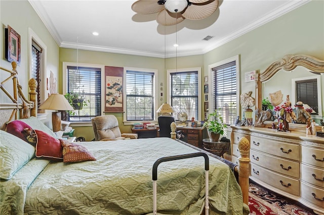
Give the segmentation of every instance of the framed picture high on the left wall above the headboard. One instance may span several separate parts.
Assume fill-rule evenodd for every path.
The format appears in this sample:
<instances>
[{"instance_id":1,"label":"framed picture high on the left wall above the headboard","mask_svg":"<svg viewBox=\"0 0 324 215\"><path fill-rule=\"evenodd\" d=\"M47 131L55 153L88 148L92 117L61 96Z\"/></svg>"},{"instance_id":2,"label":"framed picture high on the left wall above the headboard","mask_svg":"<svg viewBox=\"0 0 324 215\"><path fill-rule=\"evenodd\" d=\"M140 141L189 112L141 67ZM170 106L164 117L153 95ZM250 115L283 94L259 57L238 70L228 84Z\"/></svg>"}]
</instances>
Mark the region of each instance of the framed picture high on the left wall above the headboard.
<instances>
[{"instance_id":1,"label":"framed picture high on the left wall above the headboard","mask_svg":"<svg viewBox=\"0 0 324 215\"><path fill-rule=\"evenodd\" d=\"M15 61L20 65L20 35L9 25L5 30L6 34L6 59L9 62Z\"/></svg>"}]
</instances>

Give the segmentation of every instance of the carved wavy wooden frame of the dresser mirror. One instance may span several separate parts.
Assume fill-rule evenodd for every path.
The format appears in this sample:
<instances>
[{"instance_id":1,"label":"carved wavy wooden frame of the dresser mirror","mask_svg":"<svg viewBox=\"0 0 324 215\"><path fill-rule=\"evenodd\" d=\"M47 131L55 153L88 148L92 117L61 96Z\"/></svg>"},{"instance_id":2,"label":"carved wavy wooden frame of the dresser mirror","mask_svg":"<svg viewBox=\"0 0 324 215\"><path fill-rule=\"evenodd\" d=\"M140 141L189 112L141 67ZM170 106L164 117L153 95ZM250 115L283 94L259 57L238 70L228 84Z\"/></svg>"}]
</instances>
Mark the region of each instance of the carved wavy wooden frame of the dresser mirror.
<instances>
[{"instance_id":1,"label":"carved wavy wooden frame of the dresser mirror","mask_svg":"<svg viewBox=\"0 0 324 215\"><path fill-rule=\"evenodd\" d=\"M254 75L256 106L255 109L262 109L262 82L269 80L277 71L283 69L291 71L297 66L303 66L312 72L324 73L324 61L307 55L286 55L284 58L273 62L264 72Z\"/></svg>"}]
</instances>

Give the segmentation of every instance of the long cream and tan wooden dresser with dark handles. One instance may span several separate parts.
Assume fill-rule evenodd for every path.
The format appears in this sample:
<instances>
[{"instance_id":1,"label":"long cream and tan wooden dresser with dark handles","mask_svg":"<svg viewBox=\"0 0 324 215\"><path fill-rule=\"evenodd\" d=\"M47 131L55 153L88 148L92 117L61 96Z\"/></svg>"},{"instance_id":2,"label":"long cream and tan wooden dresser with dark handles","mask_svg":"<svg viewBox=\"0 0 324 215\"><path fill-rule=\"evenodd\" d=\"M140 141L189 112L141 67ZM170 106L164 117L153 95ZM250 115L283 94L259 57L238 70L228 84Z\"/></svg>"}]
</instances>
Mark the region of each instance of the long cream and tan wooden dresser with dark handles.
<instances>
[{"instance_id":1,"label":"long cream and tan wooden dresser with dark handles","mask_svg":"<svg viewBox=\"0 0 324 215\"><path fill-rule=\"evenodd\" d=\"M231 127L232 162L238 160L238 140L246 137L251 143L253 181L324 214L324 138L299 131Z\"/></svg>"}]
</instances>

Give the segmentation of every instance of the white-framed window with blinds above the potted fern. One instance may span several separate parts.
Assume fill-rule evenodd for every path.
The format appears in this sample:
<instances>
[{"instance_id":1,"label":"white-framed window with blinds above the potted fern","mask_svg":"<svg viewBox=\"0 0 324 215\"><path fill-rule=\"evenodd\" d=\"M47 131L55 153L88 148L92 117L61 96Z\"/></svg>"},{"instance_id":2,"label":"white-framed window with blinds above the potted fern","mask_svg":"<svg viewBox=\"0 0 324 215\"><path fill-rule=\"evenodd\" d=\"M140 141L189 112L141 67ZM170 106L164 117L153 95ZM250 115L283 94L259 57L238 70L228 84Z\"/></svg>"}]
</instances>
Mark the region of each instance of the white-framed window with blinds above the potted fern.
<instances>
[{"instance_id":1,"label":"white-framed window with blinds above the potted fern","mask_svg":"<svg viewBox=\"0 0 324 215\"><path fill-rule=\"evenodd\" d=\"M209 66L211 73L211 100L209 109L221 110L224 123L233 124L238 116L239 86L238 57Z\"/></svg>"}]
</instances>

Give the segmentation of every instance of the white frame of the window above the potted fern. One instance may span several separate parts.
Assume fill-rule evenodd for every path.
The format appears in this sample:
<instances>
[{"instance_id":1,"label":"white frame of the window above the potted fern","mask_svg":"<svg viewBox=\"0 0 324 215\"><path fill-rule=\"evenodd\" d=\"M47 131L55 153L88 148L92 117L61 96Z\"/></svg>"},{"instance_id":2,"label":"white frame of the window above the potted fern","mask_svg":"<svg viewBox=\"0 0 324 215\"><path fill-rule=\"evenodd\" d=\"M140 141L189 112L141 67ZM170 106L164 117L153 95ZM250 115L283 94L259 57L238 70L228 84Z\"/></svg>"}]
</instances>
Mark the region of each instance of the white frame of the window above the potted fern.
<instances>
[{"instance_id":1,"label":"white frame of the window above the potted fern","mask_svg":"<svg viewBox=\"0 0 324 215\"><path fill-rule=\"evenodd\" d=\"M239 103L239 95L240 95L240 60L239 60L239 55L233 56L231 58L216 62L214 64L208 65L208 84L210 86L210 90L208 93L208 98L209 98L209 113L211 113L211 110L213 109L213 104L211 101L215 100L215 97L212 96L212 89L215 88L215 84L211 81L211 77L212 77L212 73L213 68L215 67L220 67L223 66L225 64L231 63L231 62L235 62L235 67L236 67L236 116L240 116L240 103ZM252 83L252 82L251 82ZM253 85L254 86L254 85Z\"/></svg>"}]
</instances>

